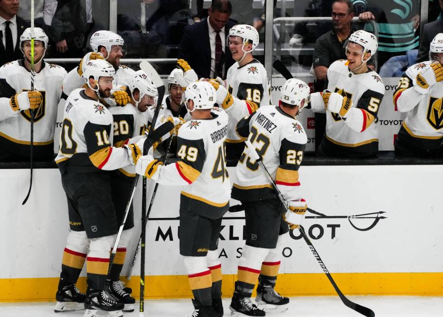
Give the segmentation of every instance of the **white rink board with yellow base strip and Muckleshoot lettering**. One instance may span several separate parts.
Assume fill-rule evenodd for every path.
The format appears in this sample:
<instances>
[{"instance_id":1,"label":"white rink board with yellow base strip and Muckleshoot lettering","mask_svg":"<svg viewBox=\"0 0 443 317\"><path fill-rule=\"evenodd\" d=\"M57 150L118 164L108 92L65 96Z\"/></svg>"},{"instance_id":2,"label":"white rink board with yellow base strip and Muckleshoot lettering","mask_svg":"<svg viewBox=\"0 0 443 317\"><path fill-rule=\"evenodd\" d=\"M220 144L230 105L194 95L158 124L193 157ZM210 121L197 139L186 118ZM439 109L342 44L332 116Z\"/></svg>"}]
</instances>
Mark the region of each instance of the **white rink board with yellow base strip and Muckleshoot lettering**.
<instances>
[{"instance_id":1,"label":"white rink board with yellow base strip and Muckleshoot lettering","mask_svg":"<svg viewBox=\"0 0 443 317\"><path fill-rule=\"evenodd\" d=\"M235 169L229 172L232 182ZM443 294L442 176L441 165L301 167L301 190L312 210L303 226L343 292ZM0 177L0 300L53 299L69 228L60 174L56 169L34 170L24 206L29 170L0 170ZM132 258L140 235L140 187L127 258ZM148 297L191 295L178 253L180 189L160 185L155 198L146 232ZM228 212L222 222L218 252L226 296L245 242L243 216ZM278 289L283 294L334 294L298 230L290 232L282 255ZM134 276L140 275L139 260ZM23 295L26 285L45 291ZM138 279L130 285L138 289Z\"/></svg>"}]
</instances>

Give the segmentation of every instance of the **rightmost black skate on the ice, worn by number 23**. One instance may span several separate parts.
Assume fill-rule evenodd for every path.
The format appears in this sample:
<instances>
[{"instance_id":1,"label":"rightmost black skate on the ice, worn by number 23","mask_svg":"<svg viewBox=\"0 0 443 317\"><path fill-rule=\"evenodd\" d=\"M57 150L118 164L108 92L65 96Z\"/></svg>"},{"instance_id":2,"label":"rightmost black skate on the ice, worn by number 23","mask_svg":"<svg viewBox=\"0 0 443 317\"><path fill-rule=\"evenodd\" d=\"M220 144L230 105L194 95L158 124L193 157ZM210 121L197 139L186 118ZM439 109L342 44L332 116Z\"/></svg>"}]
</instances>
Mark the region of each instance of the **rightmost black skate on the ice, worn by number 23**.
<instances>
[{"instance_id":1,"label":"rightmost black skate on the ice, worn by number 23","mask_svg":"<svg viewBox=\"0 0 443 317\"><path fill-rule=\"evenodd\" d=\"M274 285L266 280L260 280L257 286L257 297L255 298L257 306L266 313L281 313L288 309L289 303L287 297L281 296L274 289Z\"/></svg>"}]
</instances>

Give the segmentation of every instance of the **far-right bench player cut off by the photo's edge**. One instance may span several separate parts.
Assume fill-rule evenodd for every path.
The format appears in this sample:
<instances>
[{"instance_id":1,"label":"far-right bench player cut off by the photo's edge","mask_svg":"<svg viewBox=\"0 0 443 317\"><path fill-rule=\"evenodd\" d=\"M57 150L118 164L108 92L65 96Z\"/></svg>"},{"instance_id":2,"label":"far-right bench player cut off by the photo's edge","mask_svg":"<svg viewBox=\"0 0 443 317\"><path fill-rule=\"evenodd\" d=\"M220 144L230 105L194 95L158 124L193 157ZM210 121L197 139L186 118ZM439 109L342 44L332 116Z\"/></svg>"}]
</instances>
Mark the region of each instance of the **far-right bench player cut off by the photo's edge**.
<instances>
[{"instance_id":1,"label":"far-right bench player cut off by the photo's edge","mask_svg":"<svg viewBox=\"0 0 443 317\"><path fill-rule=\"evenodd\" d=\"M429 48L429 61L406 70L393 99L406 119L395 141L395 154L401 156L441 156L443 142L443 33Z\"/></svg>"}]
</instances>

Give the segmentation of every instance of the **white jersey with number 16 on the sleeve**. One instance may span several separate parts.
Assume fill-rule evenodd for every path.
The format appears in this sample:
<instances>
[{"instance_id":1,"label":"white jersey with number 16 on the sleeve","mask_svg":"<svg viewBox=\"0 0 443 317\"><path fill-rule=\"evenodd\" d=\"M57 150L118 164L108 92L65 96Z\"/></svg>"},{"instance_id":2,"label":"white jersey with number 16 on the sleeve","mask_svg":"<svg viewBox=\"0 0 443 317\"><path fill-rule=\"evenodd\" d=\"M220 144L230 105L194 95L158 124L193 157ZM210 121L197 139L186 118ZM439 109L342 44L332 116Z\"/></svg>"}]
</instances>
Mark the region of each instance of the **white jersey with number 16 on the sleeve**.
<instances>
[{"instance_id":1,"label":"white jersey with number 16 on the sleeve","mask_svg":"<svg viewBox=\"0 0 443 317\"><path fill-rule=\"evenodd\" d=\"M226 86L234 97L233 105L223 106L230 116L227 142L241 142L235 133L235 126L246 115L251 114L255 105L268 106L271 104L271 85L265 67L256 59L239 67L235 62L228 70ZM252 102L250 105L244 101Z\"/></svg>"}]
</instances>

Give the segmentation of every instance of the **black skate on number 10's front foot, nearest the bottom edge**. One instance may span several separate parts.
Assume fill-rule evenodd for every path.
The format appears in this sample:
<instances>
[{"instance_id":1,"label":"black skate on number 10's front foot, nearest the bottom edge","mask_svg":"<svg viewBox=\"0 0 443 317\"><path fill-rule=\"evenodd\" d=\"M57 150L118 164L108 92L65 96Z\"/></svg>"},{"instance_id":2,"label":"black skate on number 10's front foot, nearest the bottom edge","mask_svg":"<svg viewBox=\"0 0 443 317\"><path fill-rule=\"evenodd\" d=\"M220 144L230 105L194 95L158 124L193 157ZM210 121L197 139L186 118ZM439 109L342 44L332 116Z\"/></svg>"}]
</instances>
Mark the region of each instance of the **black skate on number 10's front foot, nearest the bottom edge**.
<instances>
[{"instance_id":1,"label":"black skate on number 10's front foot, nearest the bottom edge","mask_svg":"<svg viewBox=\"0 0 443 317\"><path fill-rule=\"evenodd\" d=\"M85 300L83 317L122 317L124 304L111 298L106 290L90 289Z\"/></svg>"}]
</instances>

